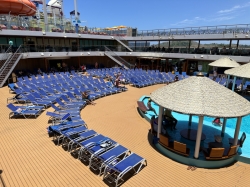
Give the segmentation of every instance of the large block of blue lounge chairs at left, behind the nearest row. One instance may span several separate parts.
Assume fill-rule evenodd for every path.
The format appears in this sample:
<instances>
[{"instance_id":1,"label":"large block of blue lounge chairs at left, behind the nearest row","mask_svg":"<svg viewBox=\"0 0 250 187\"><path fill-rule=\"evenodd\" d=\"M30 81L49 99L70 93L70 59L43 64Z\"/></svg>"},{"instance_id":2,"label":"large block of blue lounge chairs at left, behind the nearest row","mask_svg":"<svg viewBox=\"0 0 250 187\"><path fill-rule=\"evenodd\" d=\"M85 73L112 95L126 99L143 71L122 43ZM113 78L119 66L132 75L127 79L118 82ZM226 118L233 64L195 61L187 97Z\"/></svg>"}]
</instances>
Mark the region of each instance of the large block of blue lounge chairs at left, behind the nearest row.
<instances>
[{"instance_id":1,"label":"large block of blue lounge chairs at left, behind the nearest row","mask_svg":"<svg viewBox=\"0 0 250 187\"><path fill-rule=\"evenodd\" d=\"M44 74L44 77L38 74L37 77L32 75L31 79L19 77L18 82L9 84L9 87L16 95L7 98L7 103L24 105L29 103L44 108L48 108L55 103L60 108L70 108L65 104L70 101L85 106L86 102L82 100L81 95L81 92L84 91L89 93L90 100L95 100L127 90L125 87L116 88L111 82L105 82L103 79L93 79L92 77L78 75L76 72L72 72L72 74L56 72L55 75L52 73L50 75ZM80 106L77 108L80 108ZM10 116L18 116L18 113L13 112L15 111L12 111Z\"/></svg>"}]
</instances>

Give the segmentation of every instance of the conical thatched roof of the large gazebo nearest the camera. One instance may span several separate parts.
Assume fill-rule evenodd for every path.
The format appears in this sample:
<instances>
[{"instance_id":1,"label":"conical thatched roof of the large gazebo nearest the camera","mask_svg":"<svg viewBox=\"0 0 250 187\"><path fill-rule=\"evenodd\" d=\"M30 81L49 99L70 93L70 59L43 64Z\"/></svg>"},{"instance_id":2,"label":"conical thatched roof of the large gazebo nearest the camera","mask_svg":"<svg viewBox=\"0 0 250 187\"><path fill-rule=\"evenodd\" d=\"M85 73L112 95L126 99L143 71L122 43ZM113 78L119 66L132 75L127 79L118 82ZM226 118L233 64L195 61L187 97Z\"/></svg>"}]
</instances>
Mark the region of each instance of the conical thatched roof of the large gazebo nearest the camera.
<instances>
[{"instance_id":1,"label":"conical thatched roof of the large gazebo nearest the camera","mask_svg":"<svg viewBox=\"0 0 250 187\"><path fill-rule=\"evenodd\" d=\"M172 111L211 117L250 114L250 102L207 77L189 77L152 92L151 99Z\"/></svg>"}]
</instances>

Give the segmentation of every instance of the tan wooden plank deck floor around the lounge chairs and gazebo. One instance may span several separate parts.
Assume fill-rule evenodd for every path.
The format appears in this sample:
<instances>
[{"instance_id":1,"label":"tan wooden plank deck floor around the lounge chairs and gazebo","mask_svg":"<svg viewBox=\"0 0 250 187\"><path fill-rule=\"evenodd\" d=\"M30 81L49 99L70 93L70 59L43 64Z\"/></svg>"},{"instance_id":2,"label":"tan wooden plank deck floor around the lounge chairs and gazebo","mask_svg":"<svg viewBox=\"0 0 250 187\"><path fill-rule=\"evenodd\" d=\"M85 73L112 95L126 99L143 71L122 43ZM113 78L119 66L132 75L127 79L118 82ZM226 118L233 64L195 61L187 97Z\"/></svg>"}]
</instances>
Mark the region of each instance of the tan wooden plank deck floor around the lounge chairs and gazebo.
<instances>
[{"instance_id":1,"label":"tan wooden plank deck floor around the lounge chairs and gazebo","mask_svg":"<svg viewBox=\"0 0 250 187\"><path fill-rule=\"evenodd\" d=\"M129 86L128 92L98 99L81 112L89 129L147 159L148 165L123 186L249 186L250 165L237 162L228 168L190 171L151 146L150 124L138 114L136 101L161 86ZM45 112L37 119L8 119L6 98L11 94L7 87L0 94L0 186L107 186L102 177L52 142Z\"/></svg>"}]
</instances>

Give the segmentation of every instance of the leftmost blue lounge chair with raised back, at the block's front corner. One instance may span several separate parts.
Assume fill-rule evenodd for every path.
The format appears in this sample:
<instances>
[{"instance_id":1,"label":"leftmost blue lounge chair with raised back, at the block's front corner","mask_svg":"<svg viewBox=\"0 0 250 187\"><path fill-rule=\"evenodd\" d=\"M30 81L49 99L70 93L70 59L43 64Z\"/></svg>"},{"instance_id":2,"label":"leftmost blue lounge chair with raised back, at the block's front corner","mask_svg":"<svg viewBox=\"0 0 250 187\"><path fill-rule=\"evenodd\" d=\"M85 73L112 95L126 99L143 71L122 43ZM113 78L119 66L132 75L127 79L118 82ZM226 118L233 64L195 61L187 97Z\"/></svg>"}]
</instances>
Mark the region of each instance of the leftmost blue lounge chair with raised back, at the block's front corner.
<instances>
[{"instance_id":1,"label":"leftmost blue lounge chair with raised back, at the block's front corner","mask_svg":"<svg viewBox=\"0 0 250 187\"><path fill-rule=\"evenodd\" d=\"M30 109L22 109L14 106L12 103L9 103L7 107L11 110L9 114L9 119L16 116L38 116L42 110L30 110Z\"/></svg>"}]
</instances>

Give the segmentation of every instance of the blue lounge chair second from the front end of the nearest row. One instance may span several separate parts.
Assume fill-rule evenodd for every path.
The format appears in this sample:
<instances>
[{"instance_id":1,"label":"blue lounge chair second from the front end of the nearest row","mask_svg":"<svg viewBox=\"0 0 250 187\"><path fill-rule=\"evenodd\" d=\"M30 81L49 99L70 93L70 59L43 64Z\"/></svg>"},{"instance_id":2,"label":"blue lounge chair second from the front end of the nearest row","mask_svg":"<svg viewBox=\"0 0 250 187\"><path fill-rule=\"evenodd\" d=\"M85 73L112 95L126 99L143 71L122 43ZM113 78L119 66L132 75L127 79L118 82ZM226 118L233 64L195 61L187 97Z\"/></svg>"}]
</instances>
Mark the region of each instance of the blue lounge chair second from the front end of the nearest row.
<instances>
[{"instance_id":1,"label":"blue lounge chair second from the front end of the nearest row","mask_svg":"<svg viewBox=\"0 0 250 187\"><path fill-rule=\"evenodd\" d=\"M127 156L129 150L122 145L117 145L114 148L108 150L101 155L94 155L89 162L89 167L93 170L99 170L99 175L102 173L102 169L106 167L106 165L112 162L114 159L122 157L122 159ZM93 162L93 160L95 160Z\"/></svg>"}]
</instances>

